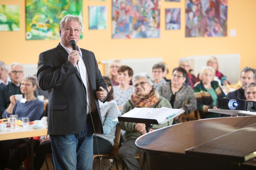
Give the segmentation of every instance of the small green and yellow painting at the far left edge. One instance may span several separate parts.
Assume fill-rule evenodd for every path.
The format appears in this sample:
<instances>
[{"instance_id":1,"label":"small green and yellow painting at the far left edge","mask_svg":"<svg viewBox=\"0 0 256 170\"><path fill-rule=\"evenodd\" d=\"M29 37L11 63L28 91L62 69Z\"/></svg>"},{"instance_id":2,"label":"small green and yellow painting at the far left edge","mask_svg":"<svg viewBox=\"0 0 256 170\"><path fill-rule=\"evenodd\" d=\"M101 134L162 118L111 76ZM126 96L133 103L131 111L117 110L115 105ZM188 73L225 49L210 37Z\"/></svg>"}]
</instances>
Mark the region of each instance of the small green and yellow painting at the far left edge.
<instances>
[{"instance_id":1,"label":"small green and yellow painting at the far left edge","mask_svg":"<svg viewBox=\"0 0 256 170\"><path fill-rule=\"evenodd\" d=\"M0 31L20 31L19 5L0 5Z\"/></svg>"}]
</instances>

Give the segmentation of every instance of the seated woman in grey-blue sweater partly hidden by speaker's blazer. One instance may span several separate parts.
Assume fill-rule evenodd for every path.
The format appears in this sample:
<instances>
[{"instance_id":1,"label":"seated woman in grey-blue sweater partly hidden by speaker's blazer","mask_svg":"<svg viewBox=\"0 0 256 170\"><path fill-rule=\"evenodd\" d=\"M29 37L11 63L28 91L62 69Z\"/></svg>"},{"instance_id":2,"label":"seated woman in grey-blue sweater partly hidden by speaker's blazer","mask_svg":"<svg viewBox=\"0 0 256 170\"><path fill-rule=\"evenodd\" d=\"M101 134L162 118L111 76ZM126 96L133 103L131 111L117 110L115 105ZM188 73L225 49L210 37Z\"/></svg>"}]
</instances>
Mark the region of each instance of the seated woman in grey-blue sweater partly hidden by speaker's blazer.
<instances>
[{"instance_id":1,"label":"seated woman in grey-blue sweater partly hidden by speaker's blazer","mask_svg":"<svg viewBox=\"0 0 256 170\"><path fill-rule=\"evenodd\" d=\"M111 80L106 76L103 76L103 78L108 86L108 100L105 103L99 102L104 134L96 134L96 137L98 142L99 154L108 154L113 148L116 124L118 123L113 122L113 120L117 118L119 110L116 101L114 100ZM97 143L95 136L93 135L93 155L97 154Z\"/></svg>"}]
</instances>

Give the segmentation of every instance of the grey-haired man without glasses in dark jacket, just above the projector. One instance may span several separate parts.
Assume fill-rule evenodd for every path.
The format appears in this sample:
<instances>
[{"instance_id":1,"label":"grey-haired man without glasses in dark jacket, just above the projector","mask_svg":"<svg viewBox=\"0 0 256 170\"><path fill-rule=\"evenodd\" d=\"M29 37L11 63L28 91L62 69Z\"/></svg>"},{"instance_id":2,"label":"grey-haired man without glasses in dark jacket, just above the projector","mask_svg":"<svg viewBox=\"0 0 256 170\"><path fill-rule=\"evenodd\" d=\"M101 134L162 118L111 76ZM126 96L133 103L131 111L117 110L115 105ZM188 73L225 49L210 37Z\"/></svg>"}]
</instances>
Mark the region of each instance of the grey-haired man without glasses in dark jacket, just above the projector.
<instances>
[{"instance_id":1,"label":"grey-haired man without glasses in dark jacket, just above the projector","mask_svg":"<svg viewBox=\"0 0 256 170\"><path fill-rule=\"evenodd\" d=\"M240 89L237 89L234 92L229 92L227 94L226 98L237 98L237 99L246 100L245 95L244 95L244 90L245 90L246 85L255 81L255 70L250 67L245 67L241 71L240 80L241 80L242 87Z\"/></svg>"}]
</instances>

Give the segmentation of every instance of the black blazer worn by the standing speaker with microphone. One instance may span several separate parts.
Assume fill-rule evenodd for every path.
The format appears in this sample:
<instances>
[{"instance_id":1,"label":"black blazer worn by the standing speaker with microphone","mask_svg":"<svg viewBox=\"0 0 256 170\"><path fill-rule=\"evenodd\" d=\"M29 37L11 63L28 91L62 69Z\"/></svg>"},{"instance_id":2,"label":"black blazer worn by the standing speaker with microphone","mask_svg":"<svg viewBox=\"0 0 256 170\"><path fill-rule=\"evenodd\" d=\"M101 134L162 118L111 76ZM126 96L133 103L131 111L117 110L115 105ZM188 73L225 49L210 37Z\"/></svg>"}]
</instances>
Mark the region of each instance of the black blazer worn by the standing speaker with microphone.
<instances>
[{"instance_id":1,"label":"black blazer worn by the standing speaker with microphone","mask_svg":"<svg viewBox=\"0 0 256 170\"><path fill-rule=\"evenodd\" d=\"M95 102L97 107L92 113L95 132L103 134L100 107L95 92L100 86L108 92L107 85L94 54L80 49L94 97L91 102ZM47 134L67 135L82 132L87 117L83 85L78 70L68 61L68 52L60 43L56 48L39 55L37 79L40 88L47 90L49 96Z\"/></svg>"}]
</instances>

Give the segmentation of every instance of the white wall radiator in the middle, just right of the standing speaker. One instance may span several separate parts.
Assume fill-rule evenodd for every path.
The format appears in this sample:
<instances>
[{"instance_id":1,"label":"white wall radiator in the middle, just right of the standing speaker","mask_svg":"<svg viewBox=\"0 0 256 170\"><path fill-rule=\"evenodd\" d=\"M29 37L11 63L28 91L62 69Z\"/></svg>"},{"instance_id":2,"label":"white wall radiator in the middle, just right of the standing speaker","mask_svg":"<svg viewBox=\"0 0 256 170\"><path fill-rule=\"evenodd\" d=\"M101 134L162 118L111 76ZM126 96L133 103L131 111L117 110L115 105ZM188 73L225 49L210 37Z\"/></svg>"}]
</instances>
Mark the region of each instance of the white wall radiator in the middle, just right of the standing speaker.
<instances>
[{"instance_id":1,"label":"white wall radiator in the middle, just right of the standing speaker","mask_svg":"<svg viewBox=\"0 0 256 170\"><path fill-rule=\"evenodd\" d=\"M100 63L104 64L105 75L108 75L110 64L114 60L103 60ZM132 68L133 75L141 72L146 72L152 78L152 67L154 64L162 62L163 58L134 58L134 59L120 59L123 65L127 65Z\"/></svg>"}]
</instances>

